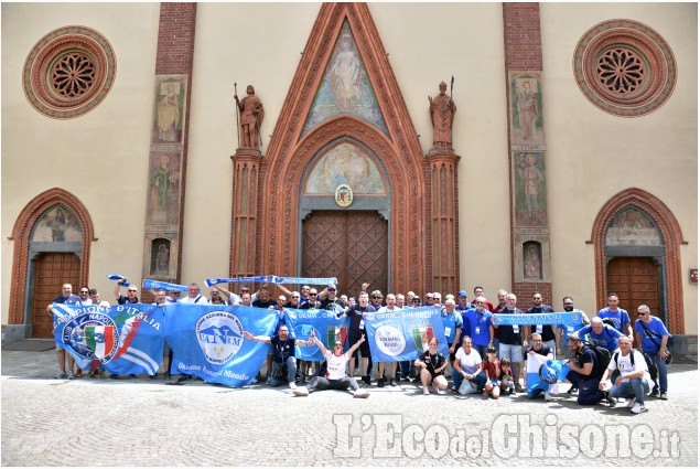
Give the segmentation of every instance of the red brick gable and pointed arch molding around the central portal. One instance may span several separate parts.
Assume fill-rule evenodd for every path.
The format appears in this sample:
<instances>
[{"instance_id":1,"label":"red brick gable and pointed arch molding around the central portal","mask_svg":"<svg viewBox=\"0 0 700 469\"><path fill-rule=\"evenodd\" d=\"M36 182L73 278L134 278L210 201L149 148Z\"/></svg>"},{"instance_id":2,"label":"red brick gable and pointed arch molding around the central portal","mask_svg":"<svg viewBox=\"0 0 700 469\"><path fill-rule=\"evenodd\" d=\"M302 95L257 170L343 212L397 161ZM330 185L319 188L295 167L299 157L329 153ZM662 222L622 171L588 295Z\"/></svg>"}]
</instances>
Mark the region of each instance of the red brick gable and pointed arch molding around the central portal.
<instances>
[{"instance_id":1,"label":"red brick gable and pointed arch molding around the central portal","mask_svg":"<svg viewBox=\"0 0 700 469\"><path fill-rule=\"evenodd\" d=\"M312 100L323 77L344 21L352 28L377 102L389 127L389 137L362 121L341 116L313 128L300 139ZM369 9L365 3L323 3L280 111L266 157L260 163L256 268L293 275L299 258L299 188L306 166L329 142L338 138L359 141L386 168L391 188L390 290L423 290L432 276L426 259L427 211L424 158L414 126L387 58ZM417 226L407 230L410 216ZM231 233L231 245L237 233ZM414 259L413 256L417 258Z\"/></svg>"}]
</instances>

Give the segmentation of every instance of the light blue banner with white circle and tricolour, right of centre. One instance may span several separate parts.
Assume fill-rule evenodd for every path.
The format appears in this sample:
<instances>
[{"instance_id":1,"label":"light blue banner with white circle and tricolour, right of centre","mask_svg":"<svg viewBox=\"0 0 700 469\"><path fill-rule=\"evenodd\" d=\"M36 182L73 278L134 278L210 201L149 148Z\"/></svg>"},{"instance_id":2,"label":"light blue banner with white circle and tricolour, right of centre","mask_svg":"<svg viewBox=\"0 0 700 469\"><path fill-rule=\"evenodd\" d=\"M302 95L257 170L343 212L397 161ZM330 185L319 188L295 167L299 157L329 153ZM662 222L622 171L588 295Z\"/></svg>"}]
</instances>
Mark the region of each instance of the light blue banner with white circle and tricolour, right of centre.
<instances>
[{"instance_id":1,"label":"light blue banner with white circle and tricolour, right of centre","mask_svg":"<svg viewBox=\"0 0 700 469\"><path fill-rule=\"evenodd\" d=\"M433 307L366 312L365 330L373 362L416 360L428 350L428 341L438 339L438 350L450 354L440 310Z\"/></svg>"}]
</instances>

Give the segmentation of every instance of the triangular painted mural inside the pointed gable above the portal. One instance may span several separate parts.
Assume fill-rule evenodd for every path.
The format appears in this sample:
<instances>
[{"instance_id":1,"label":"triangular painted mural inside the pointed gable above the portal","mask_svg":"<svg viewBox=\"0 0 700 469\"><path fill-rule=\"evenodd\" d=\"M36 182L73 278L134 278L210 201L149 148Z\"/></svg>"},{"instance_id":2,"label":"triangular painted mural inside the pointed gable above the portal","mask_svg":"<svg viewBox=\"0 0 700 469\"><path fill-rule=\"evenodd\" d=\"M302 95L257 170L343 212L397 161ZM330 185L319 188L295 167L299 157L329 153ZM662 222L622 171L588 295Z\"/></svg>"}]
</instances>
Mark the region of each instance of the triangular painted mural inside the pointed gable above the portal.
<instances>
[{"instance_id":1,"label":"triangular painted mural inside the pointed gable above the portal","mask_svg":"<svg viewBox=\"0 0 700 469\"><path fill-rule=\"evenodd\" d=\"M301 137L319 124L340 115L363 119L389 136L389 129L347 21L341 28Z\"/></svg>"}]
</instances>

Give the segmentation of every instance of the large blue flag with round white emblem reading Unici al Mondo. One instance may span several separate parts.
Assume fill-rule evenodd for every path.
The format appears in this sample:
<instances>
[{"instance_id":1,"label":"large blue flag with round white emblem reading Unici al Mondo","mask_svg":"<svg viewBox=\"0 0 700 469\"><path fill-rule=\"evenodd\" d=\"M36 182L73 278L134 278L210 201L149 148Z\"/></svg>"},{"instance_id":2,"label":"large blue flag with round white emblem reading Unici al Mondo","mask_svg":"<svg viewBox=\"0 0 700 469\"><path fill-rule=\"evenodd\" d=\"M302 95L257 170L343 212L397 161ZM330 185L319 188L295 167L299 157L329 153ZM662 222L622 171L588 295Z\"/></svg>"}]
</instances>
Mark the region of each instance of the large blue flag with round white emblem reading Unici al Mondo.
<instances>
[{"instance_id":1,"label":"large blue flag with round white emblem reading Unici al Mondo","mask_svg":"<svg viewBox=\"0 0 700 469\"><path fill-rule=\"evenodd\" d=\"M246 340L271 335L277 311L246 306L183 305L165 307L165 339L173 351L171 373L208 383L244 386L256 377L269 344Z\"/></svg>"}]
</instances>

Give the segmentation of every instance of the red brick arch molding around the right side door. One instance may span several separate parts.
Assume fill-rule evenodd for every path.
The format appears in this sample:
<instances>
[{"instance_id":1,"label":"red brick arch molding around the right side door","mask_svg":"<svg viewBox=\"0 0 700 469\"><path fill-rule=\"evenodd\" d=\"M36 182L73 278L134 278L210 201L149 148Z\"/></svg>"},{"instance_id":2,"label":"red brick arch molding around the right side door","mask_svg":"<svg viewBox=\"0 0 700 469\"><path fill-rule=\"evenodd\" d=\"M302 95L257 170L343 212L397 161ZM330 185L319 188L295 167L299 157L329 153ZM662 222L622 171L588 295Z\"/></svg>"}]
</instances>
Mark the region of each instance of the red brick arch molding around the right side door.
<instances>
[{"instance_id":1,"label":"red brick arch molding around the right side door","mask_svg":"<svg viewBox=\"0 0 700 469\"><path fill-rule=\"evenodd\" d=\"M680 245L683 237L674 213L656 196L637 189L626 189L609 200L597 213L593 223L591 241L595 256L595 297L597 305L604 305L607 271L605 264L605 232L610 223L624 209L636 207L644 211L661 232L666 264L666 291L668 324L671 333L685 333L683 276L680 265Z\"/></svg>"}]
</instances>

